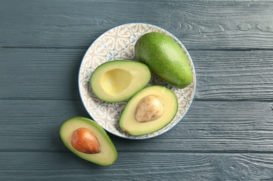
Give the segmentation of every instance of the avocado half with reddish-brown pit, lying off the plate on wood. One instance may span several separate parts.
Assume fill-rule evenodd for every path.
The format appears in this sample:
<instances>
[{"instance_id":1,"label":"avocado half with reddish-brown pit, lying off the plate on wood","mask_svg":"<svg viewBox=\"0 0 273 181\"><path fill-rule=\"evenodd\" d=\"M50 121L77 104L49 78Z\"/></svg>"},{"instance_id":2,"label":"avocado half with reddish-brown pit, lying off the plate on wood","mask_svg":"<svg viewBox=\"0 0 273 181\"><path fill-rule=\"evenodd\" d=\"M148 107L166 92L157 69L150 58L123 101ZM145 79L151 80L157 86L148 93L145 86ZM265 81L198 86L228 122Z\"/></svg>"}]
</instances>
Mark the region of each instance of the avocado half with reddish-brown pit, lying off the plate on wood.
<instances>
[{"instance_id":1,"label":"avocado half with reddish-brown pit, lying off the plate on wood","mask_svg":"<svg viewBox=\"0 0 273 181\"><path fill-rule=\"evenodd\" d=\"M84 117L66 120L61 125L60 136L71 152L89 162L110 166L117 159L115 145L94 120Z\"/></svg>"}]
</instances>

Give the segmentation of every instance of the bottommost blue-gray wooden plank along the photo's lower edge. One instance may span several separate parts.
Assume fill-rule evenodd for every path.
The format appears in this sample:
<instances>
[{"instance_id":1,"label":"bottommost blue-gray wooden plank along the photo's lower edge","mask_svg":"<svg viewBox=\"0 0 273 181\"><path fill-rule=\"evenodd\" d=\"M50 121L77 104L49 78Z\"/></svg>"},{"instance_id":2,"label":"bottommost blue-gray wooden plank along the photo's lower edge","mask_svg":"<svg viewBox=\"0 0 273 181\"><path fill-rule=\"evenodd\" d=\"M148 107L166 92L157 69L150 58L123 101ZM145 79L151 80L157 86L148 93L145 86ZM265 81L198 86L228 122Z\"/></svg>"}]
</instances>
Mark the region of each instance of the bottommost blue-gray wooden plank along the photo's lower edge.
<instances>
[{"instance_id":1,"label":"bottommost blue-gray wooden plank along the photo's lower edge","mask_svg":"<svg viewBox=\"0 0 273 181\"><path fill-rule=\"evenodd\" d=\"M119 152L110 167L72 153L0 152L1 180L272 180L272 154Z\"/></svg>"}]
</instances>

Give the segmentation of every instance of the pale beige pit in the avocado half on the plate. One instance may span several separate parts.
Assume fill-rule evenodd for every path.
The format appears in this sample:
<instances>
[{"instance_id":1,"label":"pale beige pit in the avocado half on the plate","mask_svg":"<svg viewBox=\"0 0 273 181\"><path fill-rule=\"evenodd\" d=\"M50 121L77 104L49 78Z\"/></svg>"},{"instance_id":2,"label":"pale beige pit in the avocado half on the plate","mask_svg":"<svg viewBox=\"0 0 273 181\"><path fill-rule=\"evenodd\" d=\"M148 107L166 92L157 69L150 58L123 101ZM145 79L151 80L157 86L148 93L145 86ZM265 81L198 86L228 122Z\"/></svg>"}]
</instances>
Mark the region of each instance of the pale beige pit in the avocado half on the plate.
<instances>
[{"instance_id":1,"label":"pale beige pit in the avocado half on the plate","mask_svg":"<svg viewBox=\"0 0 273 181\"><path fill-rule=\"evenodd\" d=\"M135 119L145 123L160 118L164 111L164 104L160 97L147 95L140 100L135 111Z\"/></svg>"}]
</instances>

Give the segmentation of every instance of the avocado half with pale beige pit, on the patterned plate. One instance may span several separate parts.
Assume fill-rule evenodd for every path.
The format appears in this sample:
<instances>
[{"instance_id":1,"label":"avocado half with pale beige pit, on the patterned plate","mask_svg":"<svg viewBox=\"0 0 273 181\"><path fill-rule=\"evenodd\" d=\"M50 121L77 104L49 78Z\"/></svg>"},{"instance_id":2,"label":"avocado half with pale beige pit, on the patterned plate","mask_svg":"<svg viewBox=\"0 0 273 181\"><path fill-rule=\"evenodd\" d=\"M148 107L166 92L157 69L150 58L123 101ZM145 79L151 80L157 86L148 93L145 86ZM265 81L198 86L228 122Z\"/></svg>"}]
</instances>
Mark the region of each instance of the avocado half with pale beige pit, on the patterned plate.
<instances>
[{"instance_id":1,"label":"avocado half with pale beige pit, on the patterned plate","mask_svg":"<svg viewBox=\"0 0 273 181\"><path fill-rule=\"evenodd\" d=\"M156 132L175 118L177 109L175 93L163 86L149 86L128 101L119 127L135 136Z\"/></svg>"}]
</instances>

